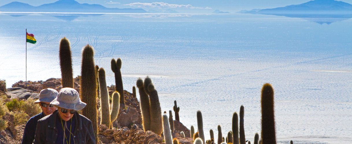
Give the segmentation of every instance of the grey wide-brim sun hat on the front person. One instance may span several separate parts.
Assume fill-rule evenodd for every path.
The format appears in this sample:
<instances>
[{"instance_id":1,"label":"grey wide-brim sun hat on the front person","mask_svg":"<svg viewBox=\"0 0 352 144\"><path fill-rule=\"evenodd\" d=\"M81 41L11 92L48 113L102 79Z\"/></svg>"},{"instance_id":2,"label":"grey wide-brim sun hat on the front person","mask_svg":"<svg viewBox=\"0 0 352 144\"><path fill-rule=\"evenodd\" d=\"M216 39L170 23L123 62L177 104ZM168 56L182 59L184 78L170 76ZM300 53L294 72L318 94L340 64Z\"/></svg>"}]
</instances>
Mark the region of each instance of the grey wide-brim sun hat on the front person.
<instances>
[{"instance_id":1,"label":"grey wide-brim sun hat on the front person","mask_svg":"<svg viewBox=\"0 0 352 144\"><path fill-rule=\"evenodd\" d=\"M50 104L69 110L81 110L87 105L81 101L77 90L73 88L62 88L59 91L57 98L55 98Z\"/></svg>"}]
</instances>

